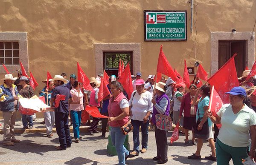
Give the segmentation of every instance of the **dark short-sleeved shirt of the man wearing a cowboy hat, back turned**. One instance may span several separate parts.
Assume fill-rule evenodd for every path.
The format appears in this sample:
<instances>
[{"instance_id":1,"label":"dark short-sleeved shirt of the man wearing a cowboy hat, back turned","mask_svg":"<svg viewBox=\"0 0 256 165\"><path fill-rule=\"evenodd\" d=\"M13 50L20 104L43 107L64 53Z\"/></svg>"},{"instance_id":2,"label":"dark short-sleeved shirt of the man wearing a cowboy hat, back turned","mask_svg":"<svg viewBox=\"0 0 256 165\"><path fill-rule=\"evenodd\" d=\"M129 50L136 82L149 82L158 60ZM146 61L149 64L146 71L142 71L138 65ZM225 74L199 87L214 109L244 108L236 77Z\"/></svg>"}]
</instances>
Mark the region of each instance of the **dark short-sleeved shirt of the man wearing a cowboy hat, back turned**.
<instances>
[{"instance_id":1,"label":"dark short-sleeved shirt of the man wearing a cowboy hat, back turned","mask_svg":"<svg viewBox=\"0 0 256 165\"><path fill-rule=\"evenodd\" d=\"M66 88L64 85L59 85L52 90L52 98L56 99L57 94L64 95L66 96L66 98L65 100L60 101L60 105L58 106L58 108L55 108L54 111L68 114L69 113L68 100L72 97L70 94L70 90Z\"/></svg>"}]
</instances>

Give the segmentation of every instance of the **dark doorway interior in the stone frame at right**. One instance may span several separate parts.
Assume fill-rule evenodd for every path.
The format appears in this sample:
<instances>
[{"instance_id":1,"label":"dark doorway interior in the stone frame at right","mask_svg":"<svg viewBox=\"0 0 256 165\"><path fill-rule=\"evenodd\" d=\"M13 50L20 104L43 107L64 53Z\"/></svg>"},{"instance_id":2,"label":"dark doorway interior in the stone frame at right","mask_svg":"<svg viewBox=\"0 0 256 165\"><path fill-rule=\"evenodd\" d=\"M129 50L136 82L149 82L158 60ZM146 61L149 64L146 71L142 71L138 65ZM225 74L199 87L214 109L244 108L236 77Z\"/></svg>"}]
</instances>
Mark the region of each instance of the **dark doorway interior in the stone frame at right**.
<instances>
[{"instance_id":1,"label":"dark doorway interior in the stone frame at right","mask_svg":"<svg viewBox=\"0 0 256 165\"><path fill-rule=\"evenodd\" d=\"M221 68L232 56L235 57L237 76L241 77L246 66L246 41L232 40L218 42L218 68Z\"/></svg>"}]
</instances>

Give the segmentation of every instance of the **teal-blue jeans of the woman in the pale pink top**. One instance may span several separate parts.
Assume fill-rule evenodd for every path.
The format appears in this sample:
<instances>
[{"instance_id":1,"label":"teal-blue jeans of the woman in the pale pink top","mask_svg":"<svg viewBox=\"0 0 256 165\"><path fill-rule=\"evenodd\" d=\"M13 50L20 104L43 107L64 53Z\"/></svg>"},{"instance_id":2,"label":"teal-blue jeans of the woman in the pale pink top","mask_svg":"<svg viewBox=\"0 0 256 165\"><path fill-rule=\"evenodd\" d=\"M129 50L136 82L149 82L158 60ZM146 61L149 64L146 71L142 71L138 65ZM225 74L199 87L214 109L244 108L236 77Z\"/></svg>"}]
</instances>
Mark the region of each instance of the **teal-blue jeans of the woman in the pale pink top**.
<instances>
[{"instance_id":1,"label":"teal-blue jeans of the woman in the pale pink top","mask_svg":"<svg viewBox=\"0 0 256 165\"><path fill-rule=\"evenodd\" d=\"M71 117L72 117L72 121L73 121L73 130L74 130L74 137L75 138L79 138L79 127L80 127L80 123L81 123L81 114L82 111L70 111Z\"/></svg>"}]
</instances>

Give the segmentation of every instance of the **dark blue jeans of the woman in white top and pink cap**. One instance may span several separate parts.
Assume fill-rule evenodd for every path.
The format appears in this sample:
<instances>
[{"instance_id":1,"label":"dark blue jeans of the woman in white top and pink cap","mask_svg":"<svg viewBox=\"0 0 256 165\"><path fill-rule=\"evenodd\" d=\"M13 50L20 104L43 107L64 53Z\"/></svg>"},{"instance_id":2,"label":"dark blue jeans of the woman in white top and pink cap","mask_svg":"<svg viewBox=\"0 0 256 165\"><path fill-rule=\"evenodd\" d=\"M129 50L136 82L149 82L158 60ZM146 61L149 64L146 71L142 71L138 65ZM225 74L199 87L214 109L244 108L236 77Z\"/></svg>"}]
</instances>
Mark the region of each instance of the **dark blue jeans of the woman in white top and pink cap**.
<instances>
[{"instance_id":1,"label":"dark blue jeans of the woman in white top and pink cap","mask_svg":"<svg viewBox=\"0 0 256 165\"><path fill-rule=\"evenodd\" d=\"M140 153L140 127L141 127L141 144L142 149L148 148L148 125L149 121L143 123L140 120L131 119L131 125L134 127L133 129L133 140L134 140L134 151Z\"/></svg>"}]
</instances>

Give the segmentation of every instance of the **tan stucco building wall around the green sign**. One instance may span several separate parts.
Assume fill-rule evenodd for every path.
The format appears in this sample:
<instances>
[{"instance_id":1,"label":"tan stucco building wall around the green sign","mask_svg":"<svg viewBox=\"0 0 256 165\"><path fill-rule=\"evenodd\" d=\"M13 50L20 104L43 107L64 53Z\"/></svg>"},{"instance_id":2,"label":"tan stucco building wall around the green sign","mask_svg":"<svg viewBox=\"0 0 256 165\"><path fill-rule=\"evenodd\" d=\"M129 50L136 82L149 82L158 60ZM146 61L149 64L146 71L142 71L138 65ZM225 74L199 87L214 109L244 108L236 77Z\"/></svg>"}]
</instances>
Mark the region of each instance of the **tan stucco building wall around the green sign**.
<instances>
[{"instance_id":1,"label":"tan stucco building wall around the green sign","mask_svg":"<svg viewBox=\"0 0 256 165\"><path fill-rule=\"evenodd\" d=\"M256 1L194 1L193 33L188 0L1 0L0 31L27 32L29 70L38 82L46 78L46 71L52 75L76 73L77 61L88 77L98 74L95 43L140 43L143 78L155 74L161 44L180 74L184 59L188 67L201 61L210 73L211 32L252 31ZM187 10L188 40L144 42L143 10Z\"/></svg>"}]
</instances>

